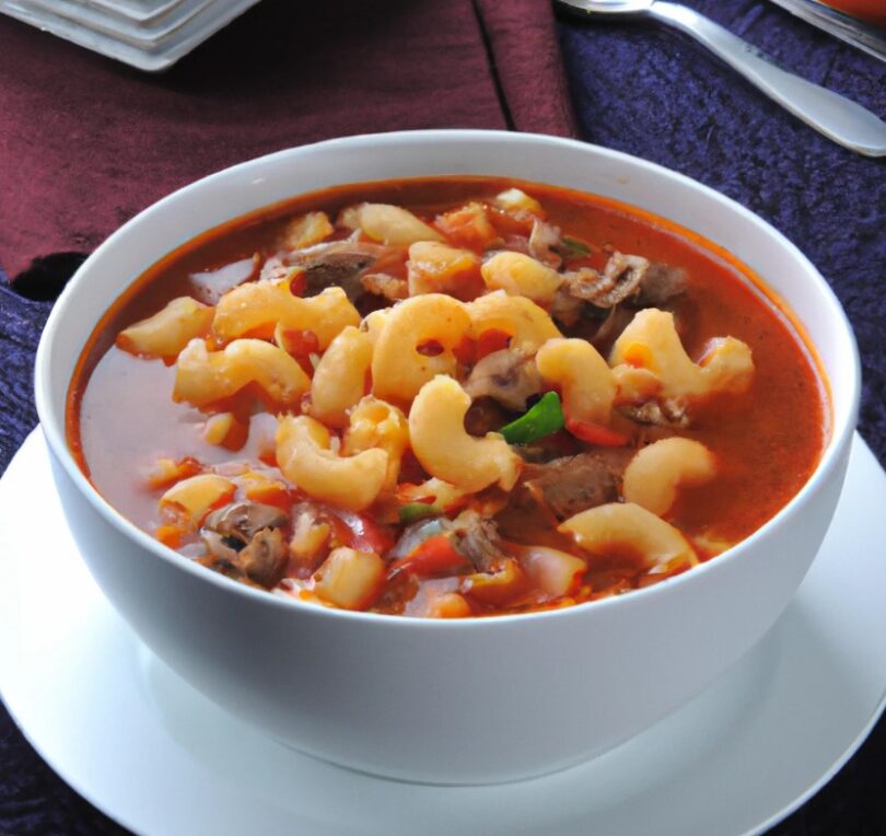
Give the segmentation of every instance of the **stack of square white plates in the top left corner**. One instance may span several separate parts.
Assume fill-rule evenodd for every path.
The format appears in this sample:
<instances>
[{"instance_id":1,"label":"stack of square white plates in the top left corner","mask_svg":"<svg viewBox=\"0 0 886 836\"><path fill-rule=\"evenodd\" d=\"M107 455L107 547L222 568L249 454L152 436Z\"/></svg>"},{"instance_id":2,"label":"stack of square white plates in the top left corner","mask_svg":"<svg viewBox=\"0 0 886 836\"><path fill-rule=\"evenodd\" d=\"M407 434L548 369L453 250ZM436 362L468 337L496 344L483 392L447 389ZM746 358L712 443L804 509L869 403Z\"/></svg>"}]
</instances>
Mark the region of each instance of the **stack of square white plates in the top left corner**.
<instances>
[{"instance_id":1,"label":"stack of square white plates in the top left corner","mask_svg":"<svg viewBox=\"0 0 886 836\"><path fill-rule=\"evenodd\" d=\"M0 12L156 72L258 0L0 0Z\"/></svg>"}]
</instances>

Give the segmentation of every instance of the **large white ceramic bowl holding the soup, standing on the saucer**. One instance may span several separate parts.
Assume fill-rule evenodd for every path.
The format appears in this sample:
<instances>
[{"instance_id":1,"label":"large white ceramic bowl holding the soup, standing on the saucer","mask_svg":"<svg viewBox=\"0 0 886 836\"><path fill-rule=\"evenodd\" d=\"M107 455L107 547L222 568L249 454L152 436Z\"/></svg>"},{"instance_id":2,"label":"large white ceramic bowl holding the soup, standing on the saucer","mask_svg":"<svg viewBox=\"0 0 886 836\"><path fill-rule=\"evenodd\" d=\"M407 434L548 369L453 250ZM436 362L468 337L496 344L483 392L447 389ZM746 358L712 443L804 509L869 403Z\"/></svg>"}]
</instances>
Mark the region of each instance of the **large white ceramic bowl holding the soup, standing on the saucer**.
<instances>
[{"instance_id":1,"label":"large white ceramic bowl holding the soup, standing on the saucer","mask_svg":"<svg viewBox=\"0 0 886 836\"><path fill-rule=\"evenodd\" d=\"M727 554L626 596L529 615L420 620L248 589L166 549L96 494L65 441L66 394L93 325L137 276L196 234L301 193L455 173L514 176L633 204L701 233L765 277L804 324L833 406L818 468L774 519ZM715 191L581 142L421 131L282 151L139 214L85 262L57 302L37 355L36 396L83 558L161 659L219 705L303 752L407 780L479 783L559 769L615 746L687 701L769 629L837 503L859 362L842 310L809 262Z\"/></svg>"}]
</instances>

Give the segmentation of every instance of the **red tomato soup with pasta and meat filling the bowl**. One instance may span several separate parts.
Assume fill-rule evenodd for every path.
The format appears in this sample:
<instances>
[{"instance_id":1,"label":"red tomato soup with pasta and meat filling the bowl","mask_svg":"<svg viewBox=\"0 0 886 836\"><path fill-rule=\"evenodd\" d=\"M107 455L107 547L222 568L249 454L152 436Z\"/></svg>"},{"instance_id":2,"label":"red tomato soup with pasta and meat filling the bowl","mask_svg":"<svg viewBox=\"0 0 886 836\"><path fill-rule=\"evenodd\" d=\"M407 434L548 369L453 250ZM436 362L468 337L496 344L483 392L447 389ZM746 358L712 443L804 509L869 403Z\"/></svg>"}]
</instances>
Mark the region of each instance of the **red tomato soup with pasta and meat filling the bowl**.
<instances>
[{"instance_id":1,"label":"red tomato soup with pasta and meat filling the bowl","mask_svg":"<svg viewBox=\"0 0 886 836\"><path fill-rule=\"evenodd\" d=\"M340 285L342 304L355 313L328 347L312 328L287 330L282 320L244 326L234 338L221 334L225 294L263 282L285 282L299 300ZM544 318L539 333L549 339L521 342L518 327L498 314L491 326L477 325L477 300L493 295L512 306L504 298L521 298ZM412 305L417 321L420 306L443 305L441 297L469 323L457 345L423 335L404 351L415 349L422 369L427 362L446 371L429 372L416 391L383 386L373 375L396 311ZM201 303L207 325L182 338L180 353L156 353L127 336L182 298ZM673 321L686 380L713 380L713 355L734 349L722 385L687 384L684 392L678 375L668 382L652 356L663 345L658 332L638 329L653 315L661 327ZM365 384L359 403L351 398L327 420L319 370L348 327L366 357ZM185 351L221 362L237 341L264 341L265 353L294 358L305 391L281 400L247 375L214 399L182 395ZM599 379L596 394L584 397L591 384L574 358L592 356ZM441 422L441 450L431 450L422 441L430 431L419 426L425 402L448 408L468 397L470 399L465 438L448 439ZM377 418L375 441L360 434L358 413L382 408L384 427L395 421L401 441L384 436ZM816 361L791 316L727 253L608 199L479 177L329 189L183 245L139 277L96 327L67 413L69 444L95 488L187 558L275 594L434 617L570 605L710 559L796 494L819 461L829 421ZM283 438L290 430L306 433L295 453ZM312 487L306 474L293 478L303 473L306 443L333 469L359 456L368 467L384 458L378 489L341 499L325 485ZM654 446L675 451L665 456L676 475L664 488L639 460ZM498 463L488 478L463 476L445 461L446 450L463 449ZM195 499L188 486L197 477L203 483ZM361 490L374 478L361 477ZM178 494L176 486L184 486ZM637 509L636 519L625 509ZM665 557L650 557L646 541L625 534L646 525L650 537L677 544Z\"/></svg>"}]
</instances>

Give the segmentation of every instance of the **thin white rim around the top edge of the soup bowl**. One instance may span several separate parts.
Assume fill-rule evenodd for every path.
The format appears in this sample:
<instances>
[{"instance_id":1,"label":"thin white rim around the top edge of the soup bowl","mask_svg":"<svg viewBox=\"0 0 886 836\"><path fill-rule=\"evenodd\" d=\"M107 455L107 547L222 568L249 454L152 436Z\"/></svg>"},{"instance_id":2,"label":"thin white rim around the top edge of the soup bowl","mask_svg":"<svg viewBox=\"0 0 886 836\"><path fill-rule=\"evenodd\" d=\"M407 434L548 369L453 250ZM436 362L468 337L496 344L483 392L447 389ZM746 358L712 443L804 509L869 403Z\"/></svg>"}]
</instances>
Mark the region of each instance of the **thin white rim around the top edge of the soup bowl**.
<instances>
[{"instance_id":1,"label":"thin white rim around the top edge of the soup bowl","mask_svg":"<svg viewBox=\"0 0 886 836\"><path fill-rule=\"evenodd\" d=\"M329 150L336 152L338 150L354 150L357 148L366 148L375 146L388 146L392 149L398 143L409 143L412 146L436 146L440 143L512 143L516 146L531 146L541 147L543 149L556 150L569 148L571 150L580 150L587 153L588 156L596 156L597 160L611 160L621 164L636 166L640 171L650 174L654 177L671 179L684 187L693 190L703 199L718 202L725 207L728 211L742 216L746 221L760 229L761 232L768 234L777 241L777 243L786 252L790 257L795 260L798 266L803 267L807 274L819 286L819 291L824 291L824 297L827 305L830 307L837 333L846 340L844 355L850 360L851 376L844 381L848 384L848 395L841 402L842 407L839 411L837 404L833 403L831 386L828 376L825 373L823 363L818 360L813 351L813 362L817 369L817 374L824 378L825 388L828 393L827 399L831 411L830 420L830 438L823 450L821 456L812 472L807 480L794 494L794 496L785 503L779 511L767 520L759 529L754 531L750 535L743 541L732 546L725 553L718 555L715 559L711 559L699 564L690 571L681 572L678 576L669 578L661 583L651 584L650 587L636 589L626 595L615 595L597 601L580 602L567 607L558 607L553 609L532 611L527 613L512 613L494 616L470 616L464 618L420 618L405 615L390 615L384 613L370 613L362 611L341 609L333 606L325 606L317 603L300 601L299 599L277 595L270 593L268 590L257 590L238 583L235 580L219 574L218 572L207 571L206 568L197 565L187 557L179 555L174 549L163 545L154 537L151 537L147 532L142 531L133 522L127 519L123 513L117 511L108 500L106 500L95 488L92 483L86 478L85 474L80 469L74 461L67 443L67 434L65 428L65 415L58 416L51 408L51 381L50 381L50 350L54 335L66 316L67 310L73 304L79 294L80 286L88 280L89 275L96 268L102 266L105 254L112 249L119 239L130 234L133 228L138 228L145 220L154 216L164 213L171 205L175 205L183 196L193 193L199 193L202 189L215 184L222 179L232 176L245 176L254 173L256 169L267 166L269 164L298 159L300 155L323 152ZM434 175L435 176L435 175ZM444 175L439 175L444 176ZM502 175L504 176L504 175ZM362 181L365 183L372 182L370 178ZM315 190L322 190L320 188ZM580 189L583 190L583 189ZM296 197L293 194L292 197ZM622 201L627 202L627 201ZM272 205L272 201L266 205ZM628 204L630 205L630 204ZM253 211L260 210L261 207L255 207L242 216L248 214ZM645 211L645 210L644 210ZM652 212L658 217L666 218L660 212ZM231 218L235 220L237 217ZM681 223L671 221L681 229L688 229ZM218 225L218 224L215 224ZM213 225L207 227L207 230L213 229ZM691 230L690 230L691 231ZM197 233L200 234L200 233ZM698 233L697 233L698 234ZM194 235L189 236L189 240ZM701 236L708 240L707 236ZM164 254L159 256L163 257ZM739 263L744 264L742 258L734 256ZM755 276L757 272L747 267ZM85 277L85 278L84 278ZM137 278L137 277L136 277ZM781 294L771 289L763 280L758 277L763 287L781 300ZM128 286L127 286L128 287ZM120 292L124 292L123 288ZM770 302L774 300L770 298ZM781 300L783 301L783 300ZM107 310L107 307L105 307ZM794 326L803 327L803 322L796 314L788 306L790 320ZM92 328L95 324L92 325ZM91 332L90 332L91 333ZM808 335L802 335L808 339ZM809 346L812 349L812 346ZM82 350L82 346L79 350ZM850 370L847 370L850 371ZM70 381L68 381L70 386ZM602 146L596 146L590 142L584 142L576 139L568 139L562 137L552 137L544 133L527 133L518 131L506 130L483 130L483 129L427 129L427 130L404 130L404 131L387 131L378 133L360 133L348 137L337 137L334 139L322 140L303 146L295 146L292 148L275 151L269 154L253 158L225 169L219 170L209 174L200 179L197 179L182 188L172 191L156 202L138 212L125 224L115 230L78 268L75 274L68 281L62 290L58 300L56 301L50 314L47 318L39 344L37 346L35 367L34 367L34 394L37 407L37 415L39 417L40 427L44 436L49 445L50 452L61 463L65 473L72 480L75 488L93 507L93 509L109 523L120 534L128 539L133 541L136 545L147 549L154 557L165 560L171 566L179 571L190 572L195 577L199 577L202 581L213 583L218 589L232 595L244 595L256 603L261 602L259 605L276 606L276 607L296 607L307 616L329 617L339 619L353 619L359 623L365 624L368 627L373 625L383 629L399 629L403 625L409 629L443 629L443 630L462 630L462 629L478 629L478 625L486 625L481 629L506 629L510 626L518 623L521 625L531 624L538 619L562 619L576 617L580 614L598 613L603 614L614 606L626 609L631 606L641 606L650 599L658 597L668 594L668 591L684 588L693 583L701 583L703 578L718 571L723 571L735 560L742 559L744 551L750 548L757 541L768 536L769 532L779 526L783 521L798 513L800 510L808 503L812 497L817 494L828 480L828 477L838 468L841 462L846 458L846 453L851 444L853 431L855 428L855 420L858 416L860 394L861 394L861 362L859 358L858 345L855 337L836 293L830 285L824 279L818 269L809 262L809 259L794 245L788 237L785 237L779 230L765 221L762 218L750 211L743 205L721 194L720 191L707 186L699 181L693 179L685 174L667 169L666 166L657 163L650 162L642 158L634 156L621 151L617 151ZM67 394L66 394L67 399ZM722 568L721 568L722 567ZM420 625L420 627L418 626Z\"/></svg>"}]
</instances>

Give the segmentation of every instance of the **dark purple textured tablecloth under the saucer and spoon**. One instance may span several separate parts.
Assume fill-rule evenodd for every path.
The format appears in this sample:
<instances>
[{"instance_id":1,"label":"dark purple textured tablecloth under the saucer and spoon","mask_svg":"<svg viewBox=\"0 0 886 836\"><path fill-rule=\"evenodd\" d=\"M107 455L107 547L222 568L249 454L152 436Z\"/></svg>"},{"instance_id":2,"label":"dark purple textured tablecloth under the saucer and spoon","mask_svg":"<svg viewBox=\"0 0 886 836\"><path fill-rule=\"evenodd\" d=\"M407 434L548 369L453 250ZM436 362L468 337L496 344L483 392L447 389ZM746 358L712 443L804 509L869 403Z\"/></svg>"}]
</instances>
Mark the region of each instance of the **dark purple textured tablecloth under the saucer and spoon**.
<instances>
[{"instance_id":1,"label":"dark purple textured tablecloth under the saucer and spoon","mask_svg":"<svg viewBox=\"0 0 886 836\"><path fill-rule=\"evenodd\" d=\"M788 68L886 117L885 63L759 0L687 4ZM261 13L260 5L250 12ZM860 429L886 462L886 355L881 346L886 162L854 155L819 137L673 32L563 21L559 35L584 139L662 163L735 198L796 243L832 285L855 328L864 364ZM2 165L0 156L0 188ZM0 469L36 425L30 375L49 306L16 295L0 281ZM886 722L828 787L772 833L884 833L884 778ZM119 832L49 770L0 709L0 834Z\"/></svg>"}]
</instances>

